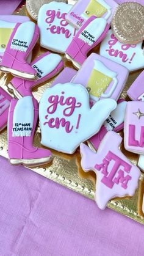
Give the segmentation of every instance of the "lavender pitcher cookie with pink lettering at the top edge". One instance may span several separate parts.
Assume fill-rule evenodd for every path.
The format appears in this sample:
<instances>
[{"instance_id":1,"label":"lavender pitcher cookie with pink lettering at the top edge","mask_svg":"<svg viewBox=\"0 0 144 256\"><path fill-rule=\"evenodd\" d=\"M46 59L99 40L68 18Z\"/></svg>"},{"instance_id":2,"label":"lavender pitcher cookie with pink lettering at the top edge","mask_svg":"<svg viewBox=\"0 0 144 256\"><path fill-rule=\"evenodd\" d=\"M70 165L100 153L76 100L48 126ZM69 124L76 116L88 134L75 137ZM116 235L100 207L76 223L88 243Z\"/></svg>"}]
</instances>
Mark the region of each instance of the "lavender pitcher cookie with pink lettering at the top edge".
<instances>
[{"instance_id":1,"label":"lavender pitcher cookie with pink lettering at the top edge","mask_svg":"<svg viewBox=\"0 0 144 256\"><path fill-rule=\"evenodd\" d=\"M90 16L103 17L110 24L118 4L113 0L79 0L68 12L67 20L79 29Z\"/></svg>"}]
</instances>

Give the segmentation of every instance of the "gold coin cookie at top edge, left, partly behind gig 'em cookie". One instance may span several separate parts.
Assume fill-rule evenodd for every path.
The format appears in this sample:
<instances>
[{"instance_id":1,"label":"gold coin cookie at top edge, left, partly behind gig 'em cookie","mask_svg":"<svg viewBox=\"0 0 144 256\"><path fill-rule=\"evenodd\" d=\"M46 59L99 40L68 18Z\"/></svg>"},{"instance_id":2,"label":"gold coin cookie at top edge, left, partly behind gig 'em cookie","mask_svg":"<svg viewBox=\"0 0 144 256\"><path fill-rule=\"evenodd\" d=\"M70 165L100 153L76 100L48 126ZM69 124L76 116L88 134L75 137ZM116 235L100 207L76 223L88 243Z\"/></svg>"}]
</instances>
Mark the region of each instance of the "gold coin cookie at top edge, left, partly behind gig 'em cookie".
<instances>
[{"instance_id":1,"label":"gold coin cookie at top edge, left, partly behind gig 'em cookie","mask_svg":"<svg viewBox=\"0 0 144 256\"><path fill-rule=\"evenodd\" d=\"M26 0L27 12L34 20L37 20L40 7L43 4L48 4L49 2L52 2L52 1L65 2L66 4L68 3L67 0Z\"/></svg>"}]
</instances>

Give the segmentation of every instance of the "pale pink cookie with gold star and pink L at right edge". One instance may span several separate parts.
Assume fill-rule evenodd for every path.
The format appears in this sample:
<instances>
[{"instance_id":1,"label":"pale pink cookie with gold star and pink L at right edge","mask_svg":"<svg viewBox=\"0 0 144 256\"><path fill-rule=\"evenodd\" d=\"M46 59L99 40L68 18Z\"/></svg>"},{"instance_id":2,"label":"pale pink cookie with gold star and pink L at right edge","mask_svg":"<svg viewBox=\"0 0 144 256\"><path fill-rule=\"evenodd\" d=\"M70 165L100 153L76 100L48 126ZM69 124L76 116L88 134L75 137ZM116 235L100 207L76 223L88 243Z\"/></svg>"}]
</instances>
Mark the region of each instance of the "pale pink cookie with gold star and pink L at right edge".
<instances>
[{"instance_id":1,"label":"pale pink cookie with gold star and pink L at right edge","mask_svg":"<svg viewBox=\"0 0 144 256\"><path fill-rule=\"evenodd\" d=\"M144 102L128 101L124 117L124 147L144 154Z\"/></svg>"}]
</instances>

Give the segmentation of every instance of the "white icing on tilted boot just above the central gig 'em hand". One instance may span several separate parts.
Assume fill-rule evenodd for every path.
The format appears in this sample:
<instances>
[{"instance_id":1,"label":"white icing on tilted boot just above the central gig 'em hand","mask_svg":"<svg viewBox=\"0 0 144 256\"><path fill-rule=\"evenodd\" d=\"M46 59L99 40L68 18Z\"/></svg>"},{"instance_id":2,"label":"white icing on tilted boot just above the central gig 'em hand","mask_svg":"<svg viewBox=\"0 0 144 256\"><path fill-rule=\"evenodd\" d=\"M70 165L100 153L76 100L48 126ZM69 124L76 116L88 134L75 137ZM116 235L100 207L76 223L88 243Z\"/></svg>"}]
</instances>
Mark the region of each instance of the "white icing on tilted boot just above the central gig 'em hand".
<instances>
[{"instance_id":1,"label":"white icing on tilted boot just above the central gig 'em hand","mask_svg":"<svg viewBox=\"0 0 144 256\"><path fill-rule=\"evenodd\" d=\"M37 70L38 78L43 78L57 67L60 60L62 60L62 57L59 54L50 53L38 60L32 67Z\"/></svg>"}]
</instances>

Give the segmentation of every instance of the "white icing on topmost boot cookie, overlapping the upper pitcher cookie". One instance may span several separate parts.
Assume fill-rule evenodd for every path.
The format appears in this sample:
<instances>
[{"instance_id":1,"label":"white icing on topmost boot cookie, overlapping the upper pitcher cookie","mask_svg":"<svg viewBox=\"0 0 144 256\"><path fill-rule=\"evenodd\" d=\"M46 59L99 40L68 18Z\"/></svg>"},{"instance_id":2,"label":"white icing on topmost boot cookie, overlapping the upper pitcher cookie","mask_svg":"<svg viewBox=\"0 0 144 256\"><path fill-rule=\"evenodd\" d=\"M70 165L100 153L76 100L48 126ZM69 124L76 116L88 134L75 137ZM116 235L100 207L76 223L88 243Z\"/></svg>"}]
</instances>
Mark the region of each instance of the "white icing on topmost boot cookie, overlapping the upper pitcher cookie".
<instances>
[{"instance_id":1,"label":"white icing on topmost boot cookie, overlapping the upper pitcher cookie","mask_svg":"<svg viewBox=\"0 0 144 256\"><path fill-rule=\"evenodd\" d=\"M104 18L96 18L79 34L79 38L92 46L96 40L101 36L106 27L106 20Z\"/></svg>"}]
</instances>

